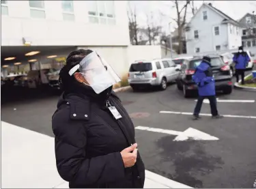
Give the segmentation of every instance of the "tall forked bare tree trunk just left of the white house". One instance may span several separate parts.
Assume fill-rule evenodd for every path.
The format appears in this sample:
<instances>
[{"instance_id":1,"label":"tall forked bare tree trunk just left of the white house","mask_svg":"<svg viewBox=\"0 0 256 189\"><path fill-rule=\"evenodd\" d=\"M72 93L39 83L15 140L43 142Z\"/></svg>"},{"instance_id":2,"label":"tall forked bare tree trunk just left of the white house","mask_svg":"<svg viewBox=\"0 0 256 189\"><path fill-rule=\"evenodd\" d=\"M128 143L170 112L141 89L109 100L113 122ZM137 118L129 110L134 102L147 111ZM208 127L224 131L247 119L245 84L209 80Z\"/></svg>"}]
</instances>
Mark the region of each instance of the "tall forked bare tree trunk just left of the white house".
<instances>
[{"instance_id":1,"label":"tall forked bare tree trunk just left of the white house","mask_svg":"<svg viewBox=\"0 0 256 189\"><path fill-rule=\"evenodd\" d=\"M182 35L184 32L184 26L186 25L186 13L188 5L190 4L190 0L186 0L186 3L184 5L181 5L182 1L173 1L175 3L175 8L177 12L177 18L173 18L175 22L177 23L177 38L179 42L179 48L178 53L183 52L183 39ZM182 8L181 8L182 7Z\"/></svg>"}]
</instances>

